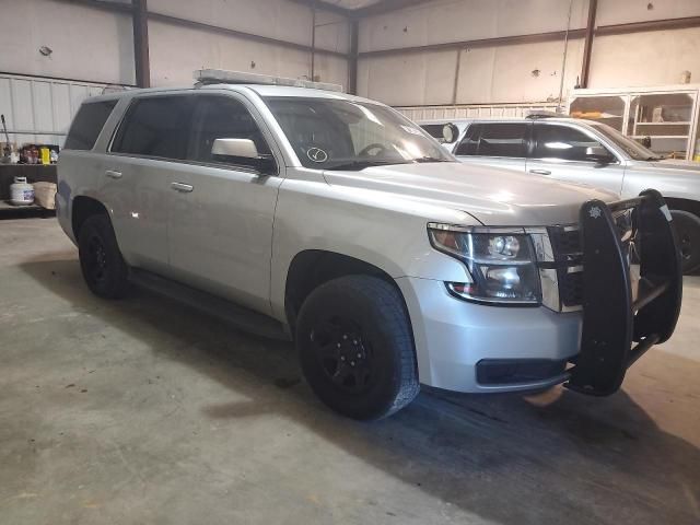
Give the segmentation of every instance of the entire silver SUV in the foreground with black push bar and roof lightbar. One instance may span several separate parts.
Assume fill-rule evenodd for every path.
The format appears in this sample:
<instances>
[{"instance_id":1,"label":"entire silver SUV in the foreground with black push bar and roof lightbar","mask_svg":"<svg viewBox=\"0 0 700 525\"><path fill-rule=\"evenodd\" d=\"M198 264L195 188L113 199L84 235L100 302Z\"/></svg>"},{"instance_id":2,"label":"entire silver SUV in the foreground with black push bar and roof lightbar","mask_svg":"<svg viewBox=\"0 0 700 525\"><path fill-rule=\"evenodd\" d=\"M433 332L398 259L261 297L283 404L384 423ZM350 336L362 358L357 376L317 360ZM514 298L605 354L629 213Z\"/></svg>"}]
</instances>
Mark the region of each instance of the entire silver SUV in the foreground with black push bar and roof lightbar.
<instances>
[{"instance_id":1,"label":"entire silver SUV in the foreground with black push bar and roof lightbar","mask_svg":"<svg viewBox=\"0 0 700 525\"><path fill-rule=\"evenodd\" d=\"M75 116L57 214L95 294L136 281L292 338L313 390L358 419L419 382L611 394L670 337L681 278L657 192L465 165L337 91L199 80Z\"/></svg>"}]
</instances>

